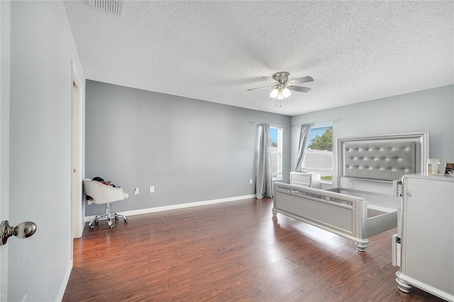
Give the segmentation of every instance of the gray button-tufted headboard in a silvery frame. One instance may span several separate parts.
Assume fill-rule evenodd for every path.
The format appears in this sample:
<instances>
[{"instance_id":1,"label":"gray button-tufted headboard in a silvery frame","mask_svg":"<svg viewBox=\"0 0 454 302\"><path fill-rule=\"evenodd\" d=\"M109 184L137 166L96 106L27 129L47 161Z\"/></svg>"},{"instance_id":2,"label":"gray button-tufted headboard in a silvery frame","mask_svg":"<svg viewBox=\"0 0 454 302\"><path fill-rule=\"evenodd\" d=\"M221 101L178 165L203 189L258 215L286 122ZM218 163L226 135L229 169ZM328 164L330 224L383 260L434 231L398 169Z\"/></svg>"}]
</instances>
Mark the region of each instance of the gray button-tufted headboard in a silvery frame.
<instances>
[{"instance_id":1,"label":"gray button-tufted headboard in a silvery frame","mask_svg":"<svg viewBox=\"0 0 454 302\"><path fill-rule=\"evenodd\" d=\"M338 138L338 175L393 181L424 172L428 132Z\"/></svg>"}]
</instances>

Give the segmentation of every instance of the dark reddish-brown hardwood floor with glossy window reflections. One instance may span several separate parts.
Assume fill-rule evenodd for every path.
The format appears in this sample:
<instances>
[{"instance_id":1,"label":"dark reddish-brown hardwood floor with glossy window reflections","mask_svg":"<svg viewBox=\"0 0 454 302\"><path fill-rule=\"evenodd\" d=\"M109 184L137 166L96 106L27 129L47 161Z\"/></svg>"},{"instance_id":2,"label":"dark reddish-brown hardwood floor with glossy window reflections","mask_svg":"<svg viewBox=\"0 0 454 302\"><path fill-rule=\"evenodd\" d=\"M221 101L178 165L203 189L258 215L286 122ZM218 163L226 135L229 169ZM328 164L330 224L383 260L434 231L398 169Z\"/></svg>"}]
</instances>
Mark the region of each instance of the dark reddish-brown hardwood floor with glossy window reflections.
<instances>
[{"instance_id":1,"label":"dark reddish-brown hardwood floor with glossy window reflections","mask_svg":"<svg viewBox=\"0 0 454 302\"><path fill-rule=\"evenodd\" d=\"M86 225L63 301L442 301L397 289L395 229L361 253L271 208L247 199Z\"/></svg>"}]
</instances>

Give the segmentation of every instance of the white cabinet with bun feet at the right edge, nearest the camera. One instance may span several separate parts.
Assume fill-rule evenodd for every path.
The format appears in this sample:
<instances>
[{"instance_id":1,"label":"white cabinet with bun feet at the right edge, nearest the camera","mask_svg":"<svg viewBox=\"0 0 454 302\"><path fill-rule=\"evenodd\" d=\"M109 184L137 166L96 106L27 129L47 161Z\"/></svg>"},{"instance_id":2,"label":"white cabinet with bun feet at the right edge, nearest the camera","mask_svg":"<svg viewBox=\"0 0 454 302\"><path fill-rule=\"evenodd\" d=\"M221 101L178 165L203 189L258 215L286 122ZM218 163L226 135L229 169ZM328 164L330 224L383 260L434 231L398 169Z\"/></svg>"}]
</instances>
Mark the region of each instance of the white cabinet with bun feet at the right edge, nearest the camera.
<instances>
[{"instance_id":1,"label":"white cabinet with bun feet at the right edge, nearest the camera","mask_svg":"<svg viewBox=\"0 0 454 302\"><path fill-rule=\"evenodd\" d=\"M393 242L399 289L454 301L454 177L402 177L401 210Z\"/></svg>"}]
</instances>

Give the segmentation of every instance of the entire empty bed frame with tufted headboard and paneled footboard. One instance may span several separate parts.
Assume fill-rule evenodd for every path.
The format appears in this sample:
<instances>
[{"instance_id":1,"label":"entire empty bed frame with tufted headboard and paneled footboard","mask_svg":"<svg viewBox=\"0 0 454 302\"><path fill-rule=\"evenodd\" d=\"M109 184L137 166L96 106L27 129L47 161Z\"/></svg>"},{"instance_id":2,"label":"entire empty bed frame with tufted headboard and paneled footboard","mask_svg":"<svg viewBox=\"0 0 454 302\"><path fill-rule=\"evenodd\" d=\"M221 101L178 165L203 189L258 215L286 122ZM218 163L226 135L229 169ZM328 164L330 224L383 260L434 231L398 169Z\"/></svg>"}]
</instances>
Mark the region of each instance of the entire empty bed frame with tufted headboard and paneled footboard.
<instances>
[{"instance_id":1,"label":"entire empty bed frame with tufted headboard and paneled footboard","mask_svg":"<svg viewBox=\"0 0 454 302\"><path fill-rule=\"evenodd\" d=\"M276 182L272 214L354 240L357 250L365 252L367 238L397 227L401 198L394 194L393 181L426 172L428 132L338 138L336 150L338 187Z\"/></svg>"}]
</instances>

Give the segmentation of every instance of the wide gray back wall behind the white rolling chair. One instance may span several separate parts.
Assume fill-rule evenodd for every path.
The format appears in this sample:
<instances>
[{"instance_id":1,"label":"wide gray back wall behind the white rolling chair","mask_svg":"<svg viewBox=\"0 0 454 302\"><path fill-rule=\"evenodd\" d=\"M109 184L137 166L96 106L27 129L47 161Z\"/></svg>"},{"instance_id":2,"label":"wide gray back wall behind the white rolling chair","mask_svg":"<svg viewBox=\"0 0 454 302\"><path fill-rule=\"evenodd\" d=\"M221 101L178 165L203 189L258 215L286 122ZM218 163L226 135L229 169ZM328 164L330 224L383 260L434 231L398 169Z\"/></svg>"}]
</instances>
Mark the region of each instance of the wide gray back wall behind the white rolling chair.
<instances>
[{"instance_id":1,"label":"wide gray back wall behind the white rolling chair","mask_svg":"<svg viewBox=\"0 0 454 302\"><path fill-rule=\"evenodd\" d=\"M255 194L258 125L249 122L285 126L288 181L289 116L94 81L87 81L86 98L87 177L111 180L129 194L115 211ZM104 208L87 206L86 216Z\"/></svg>"}]
</instances>

